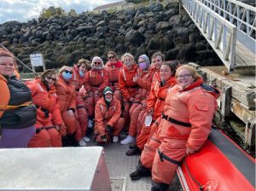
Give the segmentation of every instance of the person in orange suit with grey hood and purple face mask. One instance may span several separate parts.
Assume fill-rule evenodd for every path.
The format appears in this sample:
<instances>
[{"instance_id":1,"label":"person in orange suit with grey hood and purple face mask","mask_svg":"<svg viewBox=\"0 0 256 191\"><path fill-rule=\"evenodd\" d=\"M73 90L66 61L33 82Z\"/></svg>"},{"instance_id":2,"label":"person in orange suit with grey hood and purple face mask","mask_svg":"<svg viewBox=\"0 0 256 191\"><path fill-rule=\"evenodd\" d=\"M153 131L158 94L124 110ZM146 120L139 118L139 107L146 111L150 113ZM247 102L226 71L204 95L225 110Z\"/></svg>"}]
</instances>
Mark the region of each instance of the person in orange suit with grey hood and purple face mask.
<instances>
[{"instance_id":1,"label":"person in orange suit with grey hood and purple face mask","mask_svg":"<svg viewBox=\"0 0 256 191\"><path fill-rule=\"evenodd\" d=\"M138 135L137 120L139 113L143 111L143 107L146 107L146 99L150 90L151 80L153 76L148 72L150 67L150 61L147 55L140 55L138 58L140 73L138 76L133 78L133 81L139 85L139 90L135 96L135 100L132 102L131 108L129 110L129 115L131 122L129 124L129 135L121 141L121 144L130 144L135 141L135 137Z\"/></svg>"}]
</instances>

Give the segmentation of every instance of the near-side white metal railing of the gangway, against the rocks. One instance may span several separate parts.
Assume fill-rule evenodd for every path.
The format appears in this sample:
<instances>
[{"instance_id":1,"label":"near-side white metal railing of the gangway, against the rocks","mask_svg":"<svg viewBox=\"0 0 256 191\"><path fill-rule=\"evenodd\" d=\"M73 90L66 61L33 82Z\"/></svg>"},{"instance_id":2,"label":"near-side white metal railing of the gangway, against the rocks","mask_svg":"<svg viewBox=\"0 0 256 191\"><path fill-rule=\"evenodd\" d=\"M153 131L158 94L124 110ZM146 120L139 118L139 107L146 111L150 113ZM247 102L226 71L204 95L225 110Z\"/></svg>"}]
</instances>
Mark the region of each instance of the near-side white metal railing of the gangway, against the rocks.
<instances>
[{"instance_id":1,"label":"near-side white metal railing of the gangway, against the rocks","mask_svg":"<svg viewBox=\"0 0 256 191\"><path fill-rule=\"evenodd\" d=\"M224 62L228 70L235 67L237 28L198 0L182 0L183 8Z\"/></svg>"}]
</instances>

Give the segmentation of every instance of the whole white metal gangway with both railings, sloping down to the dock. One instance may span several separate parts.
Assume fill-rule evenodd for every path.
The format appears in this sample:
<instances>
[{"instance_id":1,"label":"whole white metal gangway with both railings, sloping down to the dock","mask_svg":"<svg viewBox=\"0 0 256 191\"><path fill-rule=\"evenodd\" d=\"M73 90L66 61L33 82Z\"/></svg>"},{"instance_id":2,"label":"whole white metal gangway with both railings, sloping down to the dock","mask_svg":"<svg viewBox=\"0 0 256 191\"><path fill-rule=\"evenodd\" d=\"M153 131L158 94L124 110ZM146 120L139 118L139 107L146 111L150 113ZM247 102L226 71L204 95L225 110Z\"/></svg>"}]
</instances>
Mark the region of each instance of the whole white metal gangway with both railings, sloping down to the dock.
<instances>
[{"instance_id":1,"label":"whole white metal gangway with both railings, sloping down to the dock","mask_svg":"<svg viewBox=\"0 0 256 191\"><path fill-rule=\"evenodd\" d=\"M236 0L182 0L228 70L255 70L256 8Z\"/></svg>"}]
</instances>

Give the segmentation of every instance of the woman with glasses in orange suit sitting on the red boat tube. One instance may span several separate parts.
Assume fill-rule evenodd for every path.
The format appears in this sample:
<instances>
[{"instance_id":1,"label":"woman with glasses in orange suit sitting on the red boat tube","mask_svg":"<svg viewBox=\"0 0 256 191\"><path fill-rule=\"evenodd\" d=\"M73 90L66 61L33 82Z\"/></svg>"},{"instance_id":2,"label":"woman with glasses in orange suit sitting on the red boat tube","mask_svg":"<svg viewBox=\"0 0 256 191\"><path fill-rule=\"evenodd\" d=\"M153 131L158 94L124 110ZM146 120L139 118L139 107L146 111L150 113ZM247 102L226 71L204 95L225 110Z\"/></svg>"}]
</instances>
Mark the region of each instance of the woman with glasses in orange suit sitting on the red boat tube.
<instances>
[{"instance_id":1,"label":"woman with glasses in orange suit sitting on the red boat tube","mask_svg":"<svg viewBox=\"0 0 256 191\"><path fill-rule=\"evenodd\" d=\"M130 175L135 180L148 175L152 168L153 191L167 190L181 160L206 142L218 107L219 91L203 84L193 67L177 68L176 78L159 128L145 145L137 171Z\"/></svg>"}]
</instances>

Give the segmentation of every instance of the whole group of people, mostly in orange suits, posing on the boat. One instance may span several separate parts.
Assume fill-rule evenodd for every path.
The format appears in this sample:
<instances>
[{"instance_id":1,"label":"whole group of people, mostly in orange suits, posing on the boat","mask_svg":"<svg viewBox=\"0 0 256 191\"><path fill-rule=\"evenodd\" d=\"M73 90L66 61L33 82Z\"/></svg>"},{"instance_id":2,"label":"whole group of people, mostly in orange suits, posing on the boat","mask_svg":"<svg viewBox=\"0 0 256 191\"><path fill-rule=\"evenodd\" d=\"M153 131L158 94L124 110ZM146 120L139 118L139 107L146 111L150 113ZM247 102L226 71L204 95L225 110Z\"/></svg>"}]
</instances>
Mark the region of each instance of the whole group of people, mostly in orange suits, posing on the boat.
<instances>
[{"instance_id":1,"label":"whole group of people, mostly in orange suits, posing on the boat","mask_svg":"<svg viewBox=\"0 0 256 191\"><path fill-rule=\"evenodd\" d=\"M152 175L154 191L166 190L181 160L202 147L217 109L218 90L160 52L150 62L109 51L106 64L80 59L26 83L16 69L0 49L0 148L84 147L88 128L98 143L119 142L125 130L126 155L141 153L130 177Z\"/></svg>"}]
</instances>

